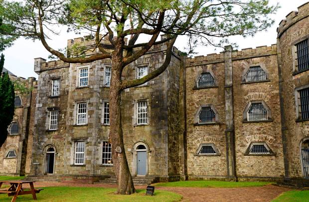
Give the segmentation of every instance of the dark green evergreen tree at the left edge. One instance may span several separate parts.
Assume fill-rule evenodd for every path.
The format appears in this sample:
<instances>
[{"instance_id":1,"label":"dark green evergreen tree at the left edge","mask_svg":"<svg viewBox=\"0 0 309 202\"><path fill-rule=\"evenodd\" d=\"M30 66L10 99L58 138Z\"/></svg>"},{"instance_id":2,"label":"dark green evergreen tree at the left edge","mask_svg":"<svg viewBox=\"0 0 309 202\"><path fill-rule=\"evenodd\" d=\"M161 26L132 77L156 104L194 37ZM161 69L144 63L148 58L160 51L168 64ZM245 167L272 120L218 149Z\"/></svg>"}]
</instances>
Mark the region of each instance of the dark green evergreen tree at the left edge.
<instances>
[{"instance_id":1,"label":"dark green evergreen tree at the left edge","mask_svg":"<svg viewBox=\"0 0 309 202\"><path fill-rule=\"evenodd\" d=\"M14 115L14 85L10 81L7 72L3 72L4 55L0 59L0 147L7 137L7 126Z\"/></svg>"}]
</instances>

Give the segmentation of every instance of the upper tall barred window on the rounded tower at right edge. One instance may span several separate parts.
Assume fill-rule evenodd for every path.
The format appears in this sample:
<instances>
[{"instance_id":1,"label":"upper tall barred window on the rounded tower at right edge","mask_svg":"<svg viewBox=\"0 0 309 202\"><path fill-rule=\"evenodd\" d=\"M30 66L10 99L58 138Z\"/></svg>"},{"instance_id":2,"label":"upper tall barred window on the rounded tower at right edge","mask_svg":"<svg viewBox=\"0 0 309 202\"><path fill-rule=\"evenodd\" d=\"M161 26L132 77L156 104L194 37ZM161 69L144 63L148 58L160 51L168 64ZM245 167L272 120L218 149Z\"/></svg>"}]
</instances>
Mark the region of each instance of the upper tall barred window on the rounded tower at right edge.
<instances>
[{"instance_id":1,"label":"upper tall barred window on the rounded tower at right edge","mask_svg":"<svg viewBox=\"0 0 309 202\"><path fill-rule=\"evenodd\" d=\"M296 44L297 48L297 63L298 71L304 71L309 69L309 46L308 39Z\"/></svg>"}]
</instances>

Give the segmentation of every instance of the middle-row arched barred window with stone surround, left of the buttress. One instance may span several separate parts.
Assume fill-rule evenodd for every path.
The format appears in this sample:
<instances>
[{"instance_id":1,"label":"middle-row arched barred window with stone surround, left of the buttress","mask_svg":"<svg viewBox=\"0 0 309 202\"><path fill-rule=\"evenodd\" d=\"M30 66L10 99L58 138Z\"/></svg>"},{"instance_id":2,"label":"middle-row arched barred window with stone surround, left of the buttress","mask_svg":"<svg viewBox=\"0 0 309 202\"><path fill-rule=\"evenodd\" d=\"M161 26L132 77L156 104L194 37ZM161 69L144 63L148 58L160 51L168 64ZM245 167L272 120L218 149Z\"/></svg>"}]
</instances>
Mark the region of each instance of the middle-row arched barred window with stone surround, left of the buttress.
<instances>
[{"instance_id":1,"label":"middle-row arched barred window with stone surround, left of the buttress","mask_svg":"<svg viewBox=\"0 0 309 202\"><path fill-rule=\"evenodd\" d=\"M218 123L218 112L212 104L201 105L194 117L195 125Z\"/></svg>"}]
</instances>

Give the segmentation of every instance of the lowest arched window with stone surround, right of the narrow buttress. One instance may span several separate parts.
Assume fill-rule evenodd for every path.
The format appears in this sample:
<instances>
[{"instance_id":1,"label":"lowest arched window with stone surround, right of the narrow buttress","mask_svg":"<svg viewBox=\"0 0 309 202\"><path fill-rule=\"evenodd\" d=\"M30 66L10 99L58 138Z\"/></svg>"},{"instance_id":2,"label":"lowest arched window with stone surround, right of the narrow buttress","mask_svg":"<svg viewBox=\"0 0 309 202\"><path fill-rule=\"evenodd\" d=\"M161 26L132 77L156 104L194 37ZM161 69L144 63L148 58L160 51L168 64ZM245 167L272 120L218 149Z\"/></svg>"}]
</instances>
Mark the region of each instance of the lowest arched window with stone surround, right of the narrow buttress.
<instances>
[{"instance_id":1,"label":"lowest arched window with stone surround, right of the narrow buttress","mask_svg":"<svg viewBox=\"0 0 309 202\"><path fill-rule=\"evenodd\" d=\"M247 156L273 156L275 154L265 142L252 142L247 148L245 155Z\"/></svg>"}]
</instances>

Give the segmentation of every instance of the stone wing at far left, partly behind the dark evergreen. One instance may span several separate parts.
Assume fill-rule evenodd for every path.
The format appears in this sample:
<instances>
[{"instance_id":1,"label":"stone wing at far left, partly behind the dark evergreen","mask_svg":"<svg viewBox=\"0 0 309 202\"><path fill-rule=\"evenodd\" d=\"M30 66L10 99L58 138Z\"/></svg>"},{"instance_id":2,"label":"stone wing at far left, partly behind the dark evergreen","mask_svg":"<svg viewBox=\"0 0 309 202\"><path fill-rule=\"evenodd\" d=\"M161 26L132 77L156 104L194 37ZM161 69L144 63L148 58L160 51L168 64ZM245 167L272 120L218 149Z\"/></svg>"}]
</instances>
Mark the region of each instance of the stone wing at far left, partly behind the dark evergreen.
<instances>
[{"instance_id":1,"label":"stone wing at far left, partly behind the dark evergreen","mask_svg":"<svg viewBox=\"0 0 309 202\"><path fill-rule=\"evenodd\" d=\"M15 90L14 117L7 128L7 139L0 147L0 175L30 174L36 80L16 77L5 68L3 72L9 74L11 81L24 86L25 91Z\"/></svg>"}]
</instances>

